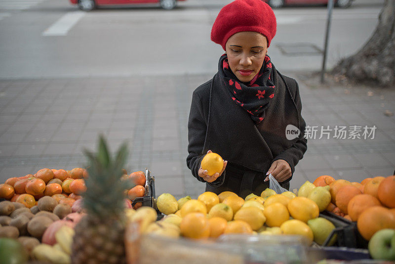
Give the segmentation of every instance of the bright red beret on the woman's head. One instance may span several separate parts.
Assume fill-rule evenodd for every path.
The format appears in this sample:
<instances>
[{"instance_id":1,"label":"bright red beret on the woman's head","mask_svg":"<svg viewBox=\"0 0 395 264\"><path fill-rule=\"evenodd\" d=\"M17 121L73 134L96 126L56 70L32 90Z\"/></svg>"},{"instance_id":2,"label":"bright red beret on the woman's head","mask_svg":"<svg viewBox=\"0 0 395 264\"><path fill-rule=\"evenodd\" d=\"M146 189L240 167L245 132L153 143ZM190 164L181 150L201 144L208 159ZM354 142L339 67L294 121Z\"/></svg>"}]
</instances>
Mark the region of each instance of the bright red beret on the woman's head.
<instances>
[{"instance_id":1,"label":"bright red beret on the woman's head","mask_svg":"<svg viewBox=\"0 0 395 264\"><path fill-rule=\"evenodd\" d=\"M237 32L253 31L263 34L268 46L276 35L276 16L263 0L236 0L225 5L211 29L211 40L222 45Z\"/></svg>"}]
</instances>

